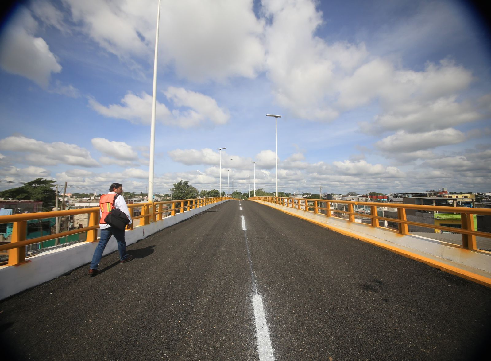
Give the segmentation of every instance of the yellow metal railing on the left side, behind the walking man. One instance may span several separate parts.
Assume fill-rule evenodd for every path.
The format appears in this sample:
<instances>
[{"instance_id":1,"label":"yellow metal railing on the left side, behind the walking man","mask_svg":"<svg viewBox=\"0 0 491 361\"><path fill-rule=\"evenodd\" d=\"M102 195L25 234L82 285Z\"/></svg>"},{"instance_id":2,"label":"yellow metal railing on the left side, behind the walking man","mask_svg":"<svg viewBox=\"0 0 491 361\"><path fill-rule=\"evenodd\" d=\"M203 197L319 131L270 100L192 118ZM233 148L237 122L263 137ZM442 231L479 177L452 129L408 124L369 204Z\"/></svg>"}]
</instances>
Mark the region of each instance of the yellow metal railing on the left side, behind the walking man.
<instances>
[{"instance_id":1,"label":"yellow metal railing on the left side, behind the walking man","mask_svg":"<svg viewBox=\"0 0 491 361\"><path fill-rule=\"evenodd\" d=\"M141 214L132 217L133 224L131 224L130 229L133 229L136 220L138 220L138 225L146 225L150 224L151 222L161 221L166 216L174 216L176 213L189 211L191 209L217 203L226 199L230 198L210 197L128 204L131 214L135 214L135 212L141 208ZM27 221L62 216L75 216L80 214L89 215L87 227L26 239ZM26 262L26 246L29 245L84 232L87 232L86 242L97 241L97 228L99 228L99 207L0 216L0 224L3 223L13 223L13 227L10 243L0 245L0 252L7 250L8 265L17 265Z\"/></svg>"}]
</instances>

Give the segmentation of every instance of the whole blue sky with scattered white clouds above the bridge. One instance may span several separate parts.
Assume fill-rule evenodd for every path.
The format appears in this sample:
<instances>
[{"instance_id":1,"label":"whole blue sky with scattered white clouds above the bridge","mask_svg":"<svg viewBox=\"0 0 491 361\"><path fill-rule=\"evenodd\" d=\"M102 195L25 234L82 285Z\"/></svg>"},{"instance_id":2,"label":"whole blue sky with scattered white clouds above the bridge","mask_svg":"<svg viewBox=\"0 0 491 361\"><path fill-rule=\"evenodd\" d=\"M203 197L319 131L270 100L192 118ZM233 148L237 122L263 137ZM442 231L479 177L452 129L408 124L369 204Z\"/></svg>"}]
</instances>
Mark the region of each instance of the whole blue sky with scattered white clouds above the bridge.
<instances>
[{"instance_id":1,"label":"whole blue sky with scattered white clouds above the bridge","mask_svg":"<svg viewBox=\"0 0 491 361\"><path fill-rule=\"evenodd\" d=\"M0 32L0 180L148 186L157 0L36 0ZM490 192L490 34L464 1L162 1L154 192ZM0 189L16 187L0 183Z\"/></svg>"}]
</instances>

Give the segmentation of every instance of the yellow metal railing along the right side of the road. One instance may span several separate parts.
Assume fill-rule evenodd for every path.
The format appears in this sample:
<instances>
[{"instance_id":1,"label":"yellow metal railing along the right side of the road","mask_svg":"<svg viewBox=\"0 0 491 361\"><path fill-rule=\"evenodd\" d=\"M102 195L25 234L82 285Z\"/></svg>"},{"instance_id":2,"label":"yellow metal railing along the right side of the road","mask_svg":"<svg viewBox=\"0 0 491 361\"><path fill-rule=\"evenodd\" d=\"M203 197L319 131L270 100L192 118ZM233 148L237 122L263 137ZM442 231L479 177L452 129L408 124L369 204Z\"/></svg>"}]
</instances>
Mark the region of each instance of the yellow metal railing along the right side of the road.
<instances>
[{"instance_id":1,"label":"yellow metal railing along the right side of the road","mask_svg":"<svg viewBox=\"0 0 491 361\"><path fill-rule=\"evenodd\" d=\"M279 204L285 207L301 209L305 212L313 212L320 214L320 211L326 211L326 217L339 217L333 213L344 214L349 222L355 222L355 217L370 218L372 222L366 224L371 227L381 227L379 221L396 222L398 223L397 232L400 234L409 234L408 226L414 225L418 227L440 229L453 233L462 234L462 247L468 250L477 250L476 236L491 238L491 233L479 232L475 229L474 215L491 216L491 209L486 208L469 208L469 207L446 207L446 206L425 206L418 204L401 204L401 203L376 203L376 202L355 202L348 200L327 200L327 199L306 199L292 197L250 197L249 199L257 199L264 202ZM311 204L309 204L311 203ZM326 206L321 207L320 203ZM346 205L344 209L330 208L330 203ZM355 206L365 206L370 208L370 214L360 214L355 211ZM397 218L380 217L378 208L396 208ZM347 209L346 209L347 208ZM428 211L428 212L445 212L445 213L460 213L462 228L446 227L437 224L429 224L422 222L408 221L406 211L408 209ZM323 214L324 215L324 214ZM365 224L365 223L360 223ZM389 229L388 229L389 230Z\"/></svg>"}]
</instances>

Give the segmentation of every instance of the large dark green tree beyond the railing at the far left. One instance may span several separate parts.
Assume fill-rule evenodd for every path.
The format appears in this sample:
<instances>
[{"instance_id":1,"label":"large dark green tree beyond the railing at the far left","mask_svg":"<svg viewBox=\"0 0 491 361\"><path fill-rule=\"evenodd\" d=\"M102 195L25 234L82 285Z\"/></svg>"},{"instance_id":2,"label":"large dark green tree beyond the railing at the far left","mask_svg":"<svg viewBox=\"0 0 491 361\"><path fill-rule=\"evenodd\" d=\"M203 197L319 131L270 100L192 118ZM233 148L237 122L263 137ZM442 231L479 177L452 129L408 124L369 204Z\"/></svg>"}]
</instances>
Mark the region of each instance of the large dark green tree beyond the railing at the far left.
<instances>
[{"instance_id":1,"label":"large dark green tree beyond the railing at the far left","mask_svg":"<svg viewBox=\"0 0 491 361\"><path fill-rule=\"evenodd\" d=\"M55 207L56 191L52 189L55 181L36 178L22 187L7 189L0 192L0 197L8 199L42 200L43 211L51 211Z\"/></svg>"}]
</instances>

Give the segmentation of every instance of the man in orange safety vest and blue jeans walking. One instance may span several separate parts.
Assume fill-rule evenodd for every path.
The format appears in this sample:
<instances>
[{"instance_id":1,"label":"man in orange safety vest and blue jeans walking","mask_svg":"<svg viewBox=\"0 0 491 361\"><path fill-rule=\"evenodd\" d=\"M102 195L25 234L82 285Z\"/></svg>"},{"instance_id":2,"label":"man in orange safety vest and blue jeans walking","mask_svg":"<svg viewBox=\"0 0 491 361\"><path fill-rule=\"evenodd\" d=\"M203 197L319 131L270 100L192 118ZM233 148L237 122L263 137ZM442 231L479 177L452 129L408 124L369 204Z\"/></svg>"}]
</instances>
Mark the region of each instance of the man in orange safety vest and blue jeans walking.
<instances>
[{"instance_id":1,"label":"man in orange safety vest and blue jeans walking","mask_svg":"<svg viewBox=\"0 0 491 361\"><path fill-rule=\"evenodd\" d=\"M119 263L126 263L133 259L133 256L129 255L126 252L126 242L124 239L124 229L118 229L116 227L111 227L108 223L106 223L106 216L109 214L109 211L114 208L119 209L121 212L125 213L128 219L130 220L130 225L132 223L130 212L128 210L128 206L124 201L123 196L123 186L119 183L112 183L109 187L108 194L102 194L101 199L99 201L99 212L101 215L101 220L99 222L99 227L101 228L101 238L99 239L99 243L94 251L94 256L92 257L92 263L90 263L89 275L95 276L99 273L98 267L99 262L102 258L102 253L106 248L106 245L109 242L109 238L114 236L118 243L119 250Z\"/></svg>"}]
</instances>

